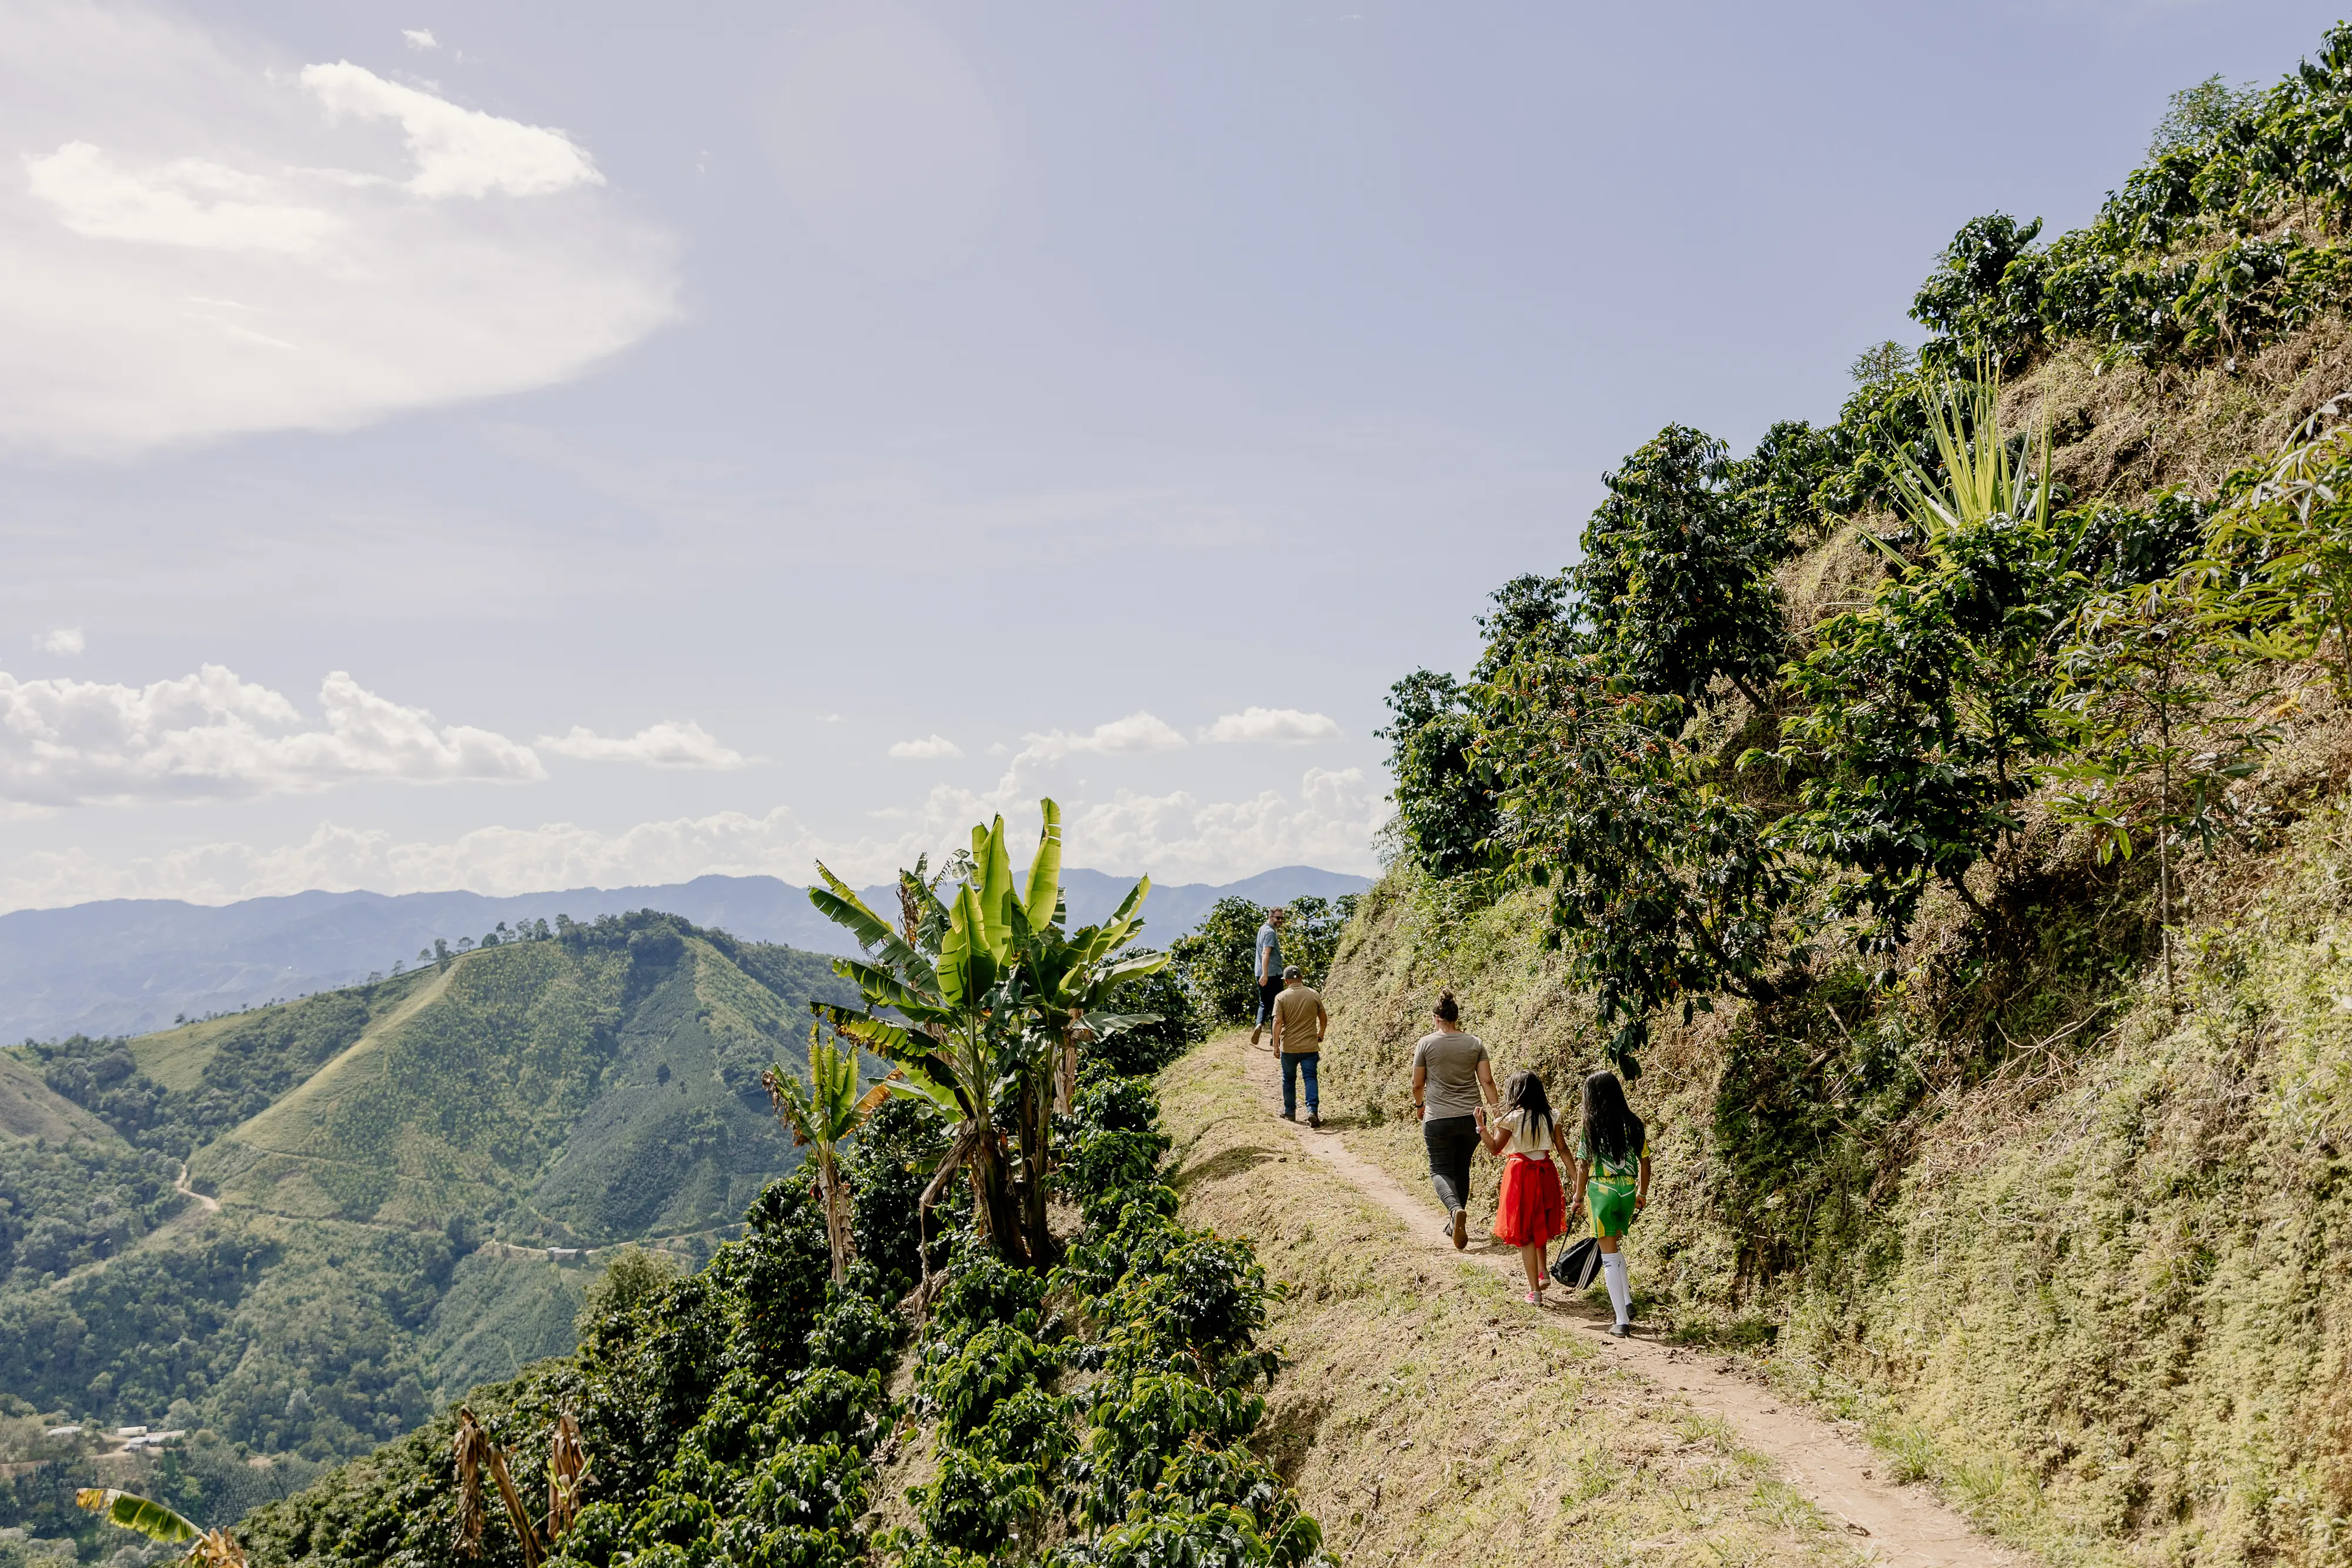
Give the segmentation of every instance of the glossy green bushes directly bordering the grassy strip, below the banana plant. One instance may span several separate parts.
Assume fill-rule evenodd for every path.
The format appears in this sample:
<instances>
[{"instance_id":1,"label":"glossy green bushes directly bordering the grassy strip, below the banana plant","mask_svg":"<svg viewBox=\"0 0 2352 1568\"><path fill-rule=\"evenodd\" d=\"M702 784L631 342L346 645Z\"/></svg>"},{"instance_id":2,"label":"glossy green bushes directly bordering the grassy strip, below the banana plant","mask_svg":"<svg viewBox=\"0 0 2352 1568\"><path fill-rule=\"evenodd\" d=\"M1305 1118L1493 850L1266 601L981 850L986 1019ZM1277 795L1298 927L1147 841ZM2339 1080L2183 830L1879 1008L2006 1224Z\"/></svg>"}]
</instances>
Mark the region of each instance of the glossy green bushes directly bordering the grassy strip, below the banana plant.
<instances>
[{"instance_id":1,"label":"glossy green bushes directly bordering the grassy strip, below the banana plant","mask_svg":"<svg viewBox=\"0 0 2352 1568\"><path fill-rule=\"evenodd\" d=\"M1148 1081L1096 1077L1063 1135L1077 1150L1063 1185L1087 1213L1051 1276L1068 1338L1040 1333L1044 1281L957 1248L920 1378L941 1443L915 1495L927 1537L877 1544L901 1563L1028 1556L1061 1523L1065 1563L1195 1561L1204 1544L1247 1566L1305 1561L1319 1530L1244 1446L1265 1408L1254 1385L1275 1371L1256 1349L1265 1279L1249 1248L1174 1222ZM1065 1366L1094 1373L1084 1394L1056 1392Z\"/></svg>"}]
</instances>

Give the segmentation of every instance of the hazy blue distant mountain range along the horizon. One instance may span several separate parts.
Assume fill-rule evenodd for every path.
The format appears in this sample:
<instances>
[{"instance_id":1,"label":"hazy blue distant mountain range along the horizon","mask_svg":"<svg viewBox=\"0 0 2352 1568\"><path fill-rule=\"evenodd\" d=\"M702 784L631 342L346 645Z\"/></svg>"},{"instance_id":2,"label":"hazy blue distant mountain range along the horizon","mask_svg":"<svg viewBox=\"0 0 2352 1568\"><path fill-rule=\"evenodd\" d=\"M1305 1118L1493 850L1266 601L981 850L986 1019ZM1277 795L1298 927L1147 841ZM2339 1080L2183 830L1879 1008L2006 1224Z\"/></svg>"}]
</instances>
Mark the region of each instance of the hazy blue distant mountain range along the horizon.
<instances>
[{"instance_id":1,"label":"hazy blue distant mountain range along the horizon","mask_svg":"<svg viewBox=\"0 0 2352 1568\"><path fill-rule=\"evenodd\" d=\"M1110 914L1129 877L1065 870L1073 924ZM1301 893L1336 898L1371 886L1367 877L1284 865L1244 882L1155 886L1145 940L1169 943L1218 898L1289 903ZM868 889L868 900L891 900ZM889 903L880 907L891 907ZM485 898L482 893L292 893L230 905L176 898L111 898L66 910L0 914L0 1039L61 1034L143 1034L174 1016L221 1013L273 997L299 997L365 980L393 961L414 964L440 936L475 940L501 919L595 919L663 910L760 943L847 952L840 926L809 907L807 889L776 877L696 877L668 886L567 889Z\"/></svg>"}]
</instances>

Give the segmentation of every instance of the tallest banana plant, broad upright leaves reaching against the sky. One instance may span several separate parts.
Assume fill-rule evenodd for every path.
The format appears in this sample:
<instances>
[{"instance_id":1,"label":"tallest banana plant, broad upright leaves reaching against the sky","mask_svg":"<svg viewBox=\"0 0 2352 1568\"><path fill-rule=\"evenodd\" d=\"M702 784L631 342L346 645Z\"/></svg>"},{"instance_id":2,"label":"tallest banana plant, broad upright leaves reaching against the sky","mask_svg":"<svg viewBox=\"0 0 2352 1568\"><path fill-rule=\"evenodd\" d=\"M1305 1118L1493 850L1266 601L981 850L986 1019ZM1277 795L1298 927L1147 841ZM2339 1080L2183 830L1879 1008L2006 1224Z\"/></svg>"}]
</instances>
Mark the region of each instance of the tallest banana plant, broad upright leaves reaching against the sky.
<instances>
[{"instance_id":1,"label":"tallest banana plant, broad upright leaves reaching against the sky","mask_svg":"<svg viewBox=\"0 0 2352 1568\"><path fill-rule=\"evenodd\" d=\"M863 1009L816 1001L833 1027L884 1058L887 1091L948 1124L948 1152L922 1194L929 1211L957 1171L971 1180L971 1215L1011 1262L1044 1267L1047 1117L1054 1091L1075 1079L1075 1051L1143 1018L1105 1013L1110 994L1164 957L1117 959L1143 929L1141 879L1110 922L1063 931L1061 806L1040 802L1044 827L1028 877L1014 879L1004 818L971 830L971 870L941 898L901 872L901 919L891 926L818 863L809 903L866 952L835 959ZM1004 1124L1014 1140L1007 1145ZM929 1276L927 1276L929 1286Z\"/></svg>"}]
</instances>

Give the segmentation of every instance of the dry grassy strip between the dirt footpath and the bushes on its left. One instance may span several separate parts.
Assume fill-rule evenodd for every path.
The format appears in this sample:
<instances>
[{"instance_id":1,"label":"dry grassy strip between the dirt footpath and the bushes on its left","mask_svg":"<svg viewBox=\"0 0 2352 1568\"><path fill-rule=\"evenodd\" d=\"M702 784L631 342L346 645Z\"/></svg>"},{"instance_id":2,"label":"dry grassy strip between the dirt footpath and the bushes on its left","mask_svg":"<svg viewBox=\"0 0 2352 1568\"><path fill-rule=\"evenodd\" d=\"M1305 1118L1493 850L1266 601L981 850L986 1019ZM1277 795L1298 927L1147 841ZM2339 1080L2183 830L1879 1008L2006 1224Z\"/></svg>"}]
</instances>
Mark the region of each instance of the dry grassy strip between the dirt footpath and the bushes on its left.
<instances>
[{"instance_id":1,"label":"dry grassy strip between the dirt footpath and the bushes on its left","mask_svg":"<svg viewBox=\"0 0 2352 1568\"><path fill-rule=\"evenodd\" d=\"M1341 1563L1849 1563L1844 1533L1722 1422L1538 1324L1491 1274L1399 1248L1310 1168L1237 1037L1160 1079L1190 1225L1247 1237L1287 1356L1256 1439Z\"/></svg>"}]
</instances>

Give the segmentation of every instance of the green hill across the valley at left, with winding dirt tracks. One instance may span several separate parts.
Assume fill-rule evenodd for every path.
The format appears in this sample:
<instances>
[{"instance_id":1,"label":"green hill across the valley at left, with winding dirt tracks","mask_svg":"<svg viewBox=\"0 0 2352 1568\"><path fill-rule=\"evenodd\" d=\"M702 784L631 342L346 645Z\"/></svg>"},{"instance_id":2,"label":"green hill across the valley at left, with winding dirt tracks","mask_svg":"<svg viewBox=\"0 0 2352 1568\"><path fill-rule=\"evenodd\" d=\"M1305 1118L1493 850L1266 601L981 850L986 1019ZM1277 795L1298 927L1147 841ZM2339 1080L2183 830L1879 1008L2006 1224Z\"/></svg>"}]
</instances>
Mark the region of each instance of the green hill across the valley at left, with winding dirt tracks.
<instances>
[{"instance_id":1,"label":"green hill across the valley at left, with winding dirt tracks","mask_svg":"<svg viewBox=\"0 0 2352 1568\"><path fill-rule=\"evenodd\" d=\"M0 1401L362 1453L572 1347L600 1260L546 1248L731 1234L797 1164L760 1072L840 994L633 914L0 1053Z\"/></svg>"}]
</instances>

